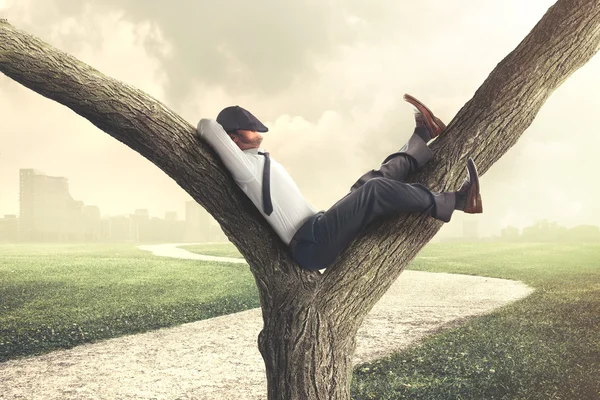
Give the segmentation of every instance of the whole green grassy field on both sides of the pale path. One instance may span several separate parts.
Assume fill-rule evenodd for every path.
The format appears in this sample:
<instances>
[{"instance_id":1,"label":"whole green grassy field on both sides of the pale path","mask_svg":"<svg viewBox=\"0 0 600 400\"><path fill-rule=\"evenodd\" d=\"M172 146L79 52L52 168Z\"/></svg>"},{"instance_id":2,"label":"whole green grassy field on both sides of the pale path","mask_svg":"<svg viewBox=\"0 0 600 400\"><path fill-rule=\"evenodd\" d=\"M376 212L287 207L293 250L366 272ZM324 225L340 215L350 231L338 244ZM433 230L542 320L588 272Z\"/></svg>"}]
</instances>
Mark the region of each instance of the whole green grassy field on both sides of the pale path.
<instances>
[{"instance_id":1,"label":"whole green grassy field on both sides of the pale path","mask_svg":"<svg viewBox=\"0 0 600 400\"><path fill-rule=\"evenodd\" d=\"M231 245L185 248L239 256ZM430 244L410 269L536 291L357 366L353 399L600 399L600 245ZM0 360L259 306L244 265L131 245L0 245L0 294Z\"/></svg>"}]
</instances>

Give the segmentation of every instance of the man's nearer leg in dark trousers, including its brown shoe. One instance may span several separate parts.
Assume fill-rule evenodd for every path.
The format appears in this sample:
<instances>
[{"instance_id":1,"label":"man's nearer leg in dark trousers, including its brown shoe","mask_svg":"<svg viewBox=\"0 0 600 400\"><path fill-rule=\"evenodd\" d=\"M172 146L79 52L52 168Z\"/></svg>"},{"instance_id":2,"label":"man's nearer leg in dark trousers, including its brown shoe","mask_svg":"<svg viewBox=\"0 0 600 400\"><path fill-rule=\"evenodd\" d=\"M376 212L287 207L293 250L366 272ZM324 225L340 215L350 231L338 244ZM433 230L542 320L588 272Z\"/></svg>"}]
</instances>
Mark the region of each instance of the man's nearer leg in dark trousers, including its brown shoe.
<instances>
[{"instance_id":1,"label":"man's nearer leg in dark trousers, including its brown shoe","mask_svg":"<svg viewBox=\"0 0 600 400\"><path fill-rule=\"evenodd\" d=\"M467 179L457 192L435 193L417 183L387 178L365 182L329 210L304 223L290 244L292 255L302 268L323 269L380 215L419 211L450 222L454 210L470 214L483 212L477 168L470 158Z\"/></svg>"}]
</instances>

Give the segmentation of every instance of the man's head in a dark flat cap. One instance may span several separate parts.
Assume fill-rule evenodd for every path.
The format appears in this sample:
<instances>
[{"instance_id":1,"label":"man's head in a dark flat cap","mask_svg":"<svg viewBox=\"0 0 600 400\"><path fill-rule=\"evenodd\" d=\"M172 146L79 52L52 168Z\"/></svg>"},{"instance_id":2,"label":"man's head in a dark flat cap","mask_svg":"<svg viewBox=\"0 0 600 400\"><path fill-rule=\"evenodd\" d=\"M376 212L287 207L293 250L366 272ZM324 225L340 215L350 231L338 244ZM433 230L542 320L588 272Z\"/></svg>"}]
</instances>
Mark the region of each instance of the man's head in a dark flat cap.
<instances>
[{"instance_id":1,"label":"man's head in a dark flat cap","mask_svg":"<svg viewBox=\"0 0 600 400\"><path fill-rule=\"evenodd\" d=\"M231 140L242 150L260 147L263 137L259 132L268 132L250 111L240 106L231 106L221 110L217 122L223 127Z\"/></svg>"}]
</instances>

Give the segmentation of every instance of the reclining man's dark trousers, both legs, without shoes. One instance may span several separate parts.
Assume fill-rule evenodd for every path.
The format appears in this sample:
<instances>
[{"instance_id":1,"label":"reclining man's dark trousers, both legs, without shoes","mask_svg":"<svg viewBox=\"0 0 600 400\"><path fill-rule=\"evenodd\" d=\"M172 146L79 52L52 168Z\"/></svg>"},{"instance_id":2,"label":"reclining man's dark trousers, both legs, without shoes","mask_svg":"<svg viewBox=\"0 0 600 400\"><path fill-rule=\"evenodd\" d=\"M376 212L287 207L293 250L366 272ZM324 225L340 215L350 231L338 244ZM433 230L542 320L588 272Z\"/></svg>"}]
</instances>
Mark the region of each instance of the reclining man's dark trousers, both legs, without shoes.
<instances>
[{"instance_id":1,"label":"reclining man's dark trousers, both legs, without shoes","mask_svg":"<svg viewBox=\"0 0 600 400\"><path fill-rule=\"evenodd\" d=\"M350 193L302 225L290 243L294 260L305 269L326 268L358 233L381 215L425 212L448 222L454 210L453 193L433 193L423 185L405 182L408 174L432 155L427 144L413 135L378 170L361 176Z\"/></svg>"}]
</instances>

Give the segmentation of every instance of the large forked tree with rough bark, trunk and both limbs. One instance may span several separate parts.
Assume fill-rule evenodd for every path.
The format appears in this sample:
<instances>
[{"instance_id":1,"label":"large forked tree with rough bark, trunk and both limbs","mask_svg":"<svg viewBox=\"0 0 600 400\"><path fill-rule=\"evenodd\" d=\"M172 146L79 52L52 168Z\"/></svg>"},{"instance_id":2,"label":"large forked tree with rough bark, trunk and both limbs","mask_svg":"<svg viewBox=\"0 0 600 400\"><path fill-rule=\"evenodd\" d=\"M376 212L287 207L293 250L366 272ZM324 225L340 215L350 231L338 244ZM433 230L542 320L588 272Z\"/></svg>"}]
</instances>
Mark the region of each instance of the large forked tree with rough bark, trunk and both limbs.
<instances>
[{"instance_id":1,"label":"large forked tree with rough bark, trunk and both limbs","mask_svg":"<svg viewBox=\"0 0 600 400\"><path fill-rule=\"evenodd\" d=\"M599 46L600 0L558 0L458 112L432 146L434 159L410 181L456 190L469 156L485 173ZM0 71L146 157L219 222L258 286L269 399L350 397L359 326L441 222L417 214L382 218L323 275L303 271L195 128L165 105L6 20Z\"/></svg>"}]
</instances>

